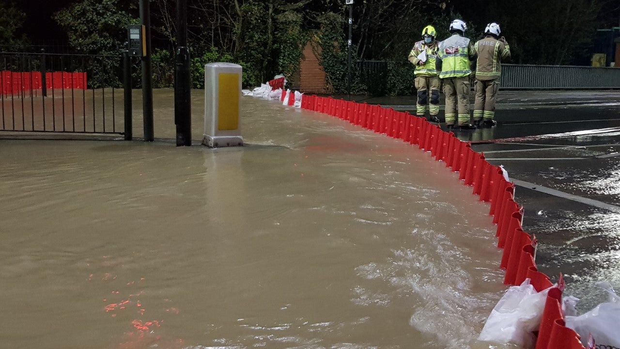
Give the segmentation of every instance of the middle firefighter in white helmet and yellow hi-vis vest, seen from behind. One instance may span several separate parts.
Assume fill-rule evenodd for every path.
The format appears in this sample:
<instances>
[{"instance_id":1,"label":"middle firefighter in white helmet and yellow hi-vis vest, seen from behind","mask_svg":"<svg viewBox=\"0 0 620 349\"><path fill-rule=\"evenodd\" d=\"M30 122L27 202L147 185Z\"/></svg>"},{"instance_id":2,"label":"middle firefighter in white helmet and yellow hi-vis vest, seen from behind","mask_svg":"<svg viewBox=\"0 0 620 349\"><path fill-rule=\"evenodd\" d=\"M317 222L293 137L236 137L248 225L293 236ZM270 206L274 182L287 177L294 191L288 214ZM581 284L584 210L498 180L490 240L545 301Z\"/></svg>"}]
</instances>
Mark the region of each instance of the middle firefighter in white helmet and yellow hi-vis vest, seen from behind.
<instances>
[{"instance_id":1,"label":"middle firefighter in white helmet and yellow hi-vis vest, seen from behind","mask_svg":"<svg viewBox=\"0 0 620 349\"><path fill-rule=\"evenodd\" d=\"M454 129L458 121L460 129L473 130L476 126L469 123L469 75L470 61L475 57L474 45L463 36L467 30L463 20L453 20L449 30L452 36L439 43L436 59L446 96L446 126Z\"/></svg>"}]
</instances>

